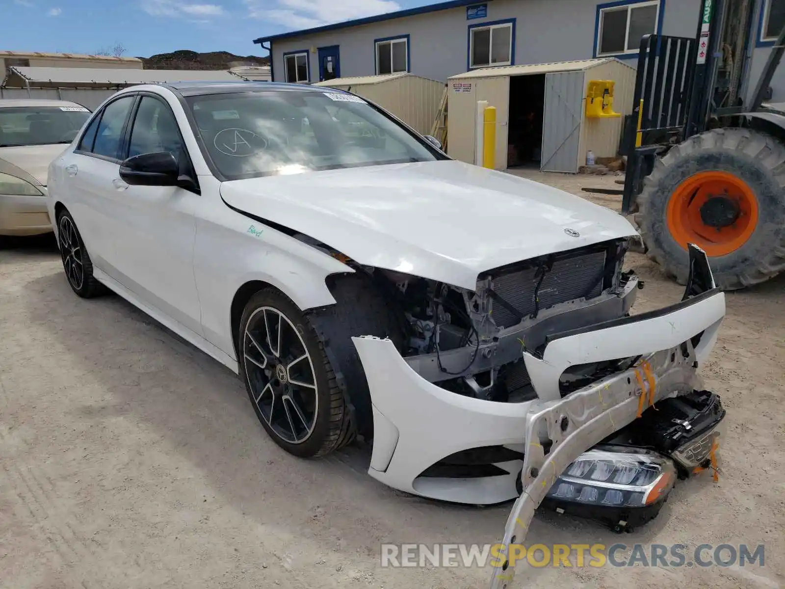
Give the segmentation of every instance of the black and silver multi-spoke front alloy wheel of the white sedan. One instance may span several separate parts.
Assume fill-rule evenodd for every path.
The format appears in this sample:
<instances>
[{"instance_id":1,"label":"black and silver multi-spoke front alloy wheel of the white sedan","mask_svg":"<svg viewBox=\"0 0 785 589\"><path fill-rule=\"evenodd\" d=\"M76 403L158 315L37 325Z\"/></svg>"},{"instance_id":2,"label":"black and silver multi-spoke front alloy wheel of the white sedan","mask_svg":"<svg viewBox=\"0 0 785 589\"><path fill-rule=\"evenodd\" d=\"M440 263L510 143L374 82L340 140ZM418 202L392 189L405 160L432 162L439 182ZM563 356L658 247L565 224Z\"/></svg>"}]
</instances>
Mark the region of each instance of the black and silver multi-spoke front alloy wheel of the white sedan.
<instances>
[{"instance_id":1,"label":"black and silver multi-spoke front alloy wheel of the white sedan","mask_svg":"<svg viewBox=\"0 0 785 589\"><path fill-rule=\"evenodd\" d=\"M278 309L260 307L243 333L246 378L270 430L301 444L316 425L316 373L297 327Z\"/></svg>"}]
</instances>

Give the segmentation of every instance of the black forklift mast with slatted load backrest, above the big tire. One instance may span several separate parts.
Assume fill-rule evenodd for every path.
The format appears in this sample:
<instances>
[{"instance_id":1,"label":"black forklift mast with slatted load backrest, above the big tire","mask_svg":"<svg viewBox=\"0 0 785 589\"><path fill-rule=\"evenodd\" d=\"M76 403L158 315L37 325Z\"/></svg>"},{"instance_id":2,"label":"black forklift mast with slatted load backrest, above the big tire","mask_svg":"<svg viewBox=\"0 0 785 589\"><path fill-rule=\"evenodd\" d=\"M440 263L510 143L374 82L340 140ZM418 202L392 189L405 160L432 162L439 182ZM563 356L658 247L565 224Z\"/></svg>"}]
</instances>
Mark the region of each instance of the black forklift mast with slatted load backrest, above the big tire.
<instances>
[{"instance_id":1,"label":"black forklift mast with slatted load backrest, above the big tire","mask_svg":"<svg viewBox=\"0 0 785 589\"><path fill-rule=\"evenodd\" d=\"M621 152L627 157L622 212L637 210L644 177L670 147L718 126L739 126L740 115L761 110L785 49L785 29L750 101L750 60L763 0L703 0L696 36L641 39L633 115Z\"/></svg>"}]
</instances>

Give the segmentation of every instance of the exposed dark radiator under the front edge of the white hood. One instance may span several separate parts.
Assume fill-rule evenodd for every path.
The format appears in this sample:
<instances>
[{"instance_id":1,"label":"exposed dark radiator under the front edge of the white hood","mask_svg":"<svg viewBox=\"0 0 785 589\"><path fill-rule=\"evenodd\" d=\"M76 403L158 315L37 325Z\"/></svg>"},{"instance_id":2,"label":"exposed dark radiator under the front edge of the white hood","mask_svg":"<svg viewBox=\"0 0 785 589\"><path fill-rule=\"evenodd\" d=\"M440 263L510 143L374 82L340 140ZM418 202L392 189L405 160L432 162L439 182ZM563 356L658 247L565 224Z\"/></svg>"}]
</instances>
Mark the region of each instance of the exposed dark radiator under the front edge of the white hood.
<instances>
[{"instance_id":1,"label":"exposed dark radiator under the front edge of the white hood","mask_svg":"<svg viewBox=\"0 0 785 589\"><path fill-rule=\"evenodd\" d=\"M605 251L592 251L553 262L539 288L539 310L575 298L593 298L602 292L601 274L605 266ZM537 268L513 270L495 276L491 271L493 290L524 317L535 312L535 290L539 276ZM516 316L498 301L493 302L492 317L499 327L512 327Z\"/></svg>"}]
</instances>

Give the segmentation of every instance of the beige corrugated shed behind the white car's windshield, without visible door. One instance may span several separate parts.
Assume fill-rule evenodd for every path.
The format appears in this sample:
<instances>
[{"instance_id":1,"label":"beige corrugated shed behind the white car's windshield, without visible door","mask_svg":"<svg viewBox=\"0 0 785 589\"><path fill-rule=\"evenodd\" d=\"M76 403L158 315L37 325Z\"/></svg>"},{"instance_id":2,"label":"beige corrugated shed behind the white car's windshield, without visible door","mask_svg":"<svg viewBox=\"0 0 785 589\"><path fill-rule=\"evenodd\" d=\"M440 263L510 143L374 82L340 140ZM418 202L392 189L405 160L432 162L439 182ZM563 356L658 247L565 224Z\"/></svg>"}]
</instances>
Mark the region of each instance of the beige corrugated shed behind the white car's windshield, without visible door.
<instances>
[{"instance_id":1,"label":"beige corrugated shed behind the white car's windshield, without visible door","mask_svg":"<svg viewBox=\"0 0 785 589\"><path fill-rule=\"evenodd\" d=\"M444 83L405 72L316 82L312 86L348 90L392 112L420 134L429 134L444 96Z\"/></svg>"}]
</instances>

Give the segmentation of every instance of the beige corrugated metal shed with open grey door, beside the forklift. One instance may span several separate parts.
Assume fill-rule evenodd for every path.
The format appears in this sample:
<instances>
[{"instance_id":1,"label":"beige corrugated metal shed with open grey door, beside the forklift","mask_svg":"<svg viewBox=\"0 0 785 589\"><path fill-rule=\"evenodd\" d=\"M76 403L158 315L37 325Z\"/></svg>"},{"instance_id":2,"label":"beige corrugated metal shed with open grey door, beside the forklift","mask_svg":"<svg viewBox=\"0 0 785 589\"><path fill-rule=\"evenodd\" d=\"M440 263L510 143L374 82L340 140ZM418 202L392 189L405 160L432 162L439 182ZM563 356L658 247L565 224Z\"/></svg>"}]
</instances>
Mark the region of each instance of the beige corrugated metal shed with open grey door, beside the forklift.
<instances>
[{"instance_id":1,"label":"beige corrugated metal shed with open grey door, beside the forklift","mask_svg":"<svg viewBox=\"0 0 785 589\"><path fill-rule=\"evenodd\" d=\"M544 76L544 96L511 98L511 88L516 86L510 79L531 75ZM544 104L539 148L541 170L577 172L586 163L586 153L590 150L596 157L614 157L619 148L623 116L586 117L586 93L592 80L614 81L614 111L621 115L632 112L635 69L614 57L484 68L451 76L447 79L449 154L476 163L477 102L487 101L496 108L495 167L498 170L506 170L508 157L517 153L517 142L522 141L521 129L525 131L523 137L531 137L528 127L519 127L517 135L510 135L510 125L516 130L516 119L520 120L517 115L526 114L523 109L531 109L531 104ZM526 145L531 148L531 142Z\"/></svg>"}]
</instances>

